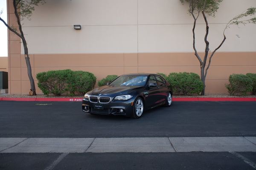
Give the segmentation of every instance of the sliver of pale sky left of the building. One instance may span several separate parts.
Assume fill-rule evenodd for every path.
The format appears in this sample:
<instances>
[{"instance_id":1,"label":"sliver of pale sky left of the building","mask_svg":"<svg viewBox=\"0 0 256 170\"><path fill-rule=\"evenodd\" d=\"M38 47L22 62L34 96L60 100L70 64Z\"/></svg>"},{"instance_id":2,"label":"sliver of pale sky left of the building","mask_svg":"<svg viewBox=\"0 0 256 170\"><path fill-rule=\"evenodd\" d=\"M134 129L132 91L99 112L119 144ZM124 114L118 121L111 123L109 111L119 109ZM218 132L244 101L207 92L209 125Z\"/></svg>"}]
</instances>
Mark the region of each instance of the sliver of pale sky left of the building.
<instances>
[{"instance_id":1,"label":"sliver of pale sky left of the building","mask_svg":"<svg viewBox=\"0 0 256 170\"><path fill-rule=\"evenodd\" d=\"M0 11L3 11L1 18L7 23L7 6L6 0L0 0ZM0 21L0 57L8 56L8 39L7 39L7 27Z\"/></svg>"}]
</instances>

